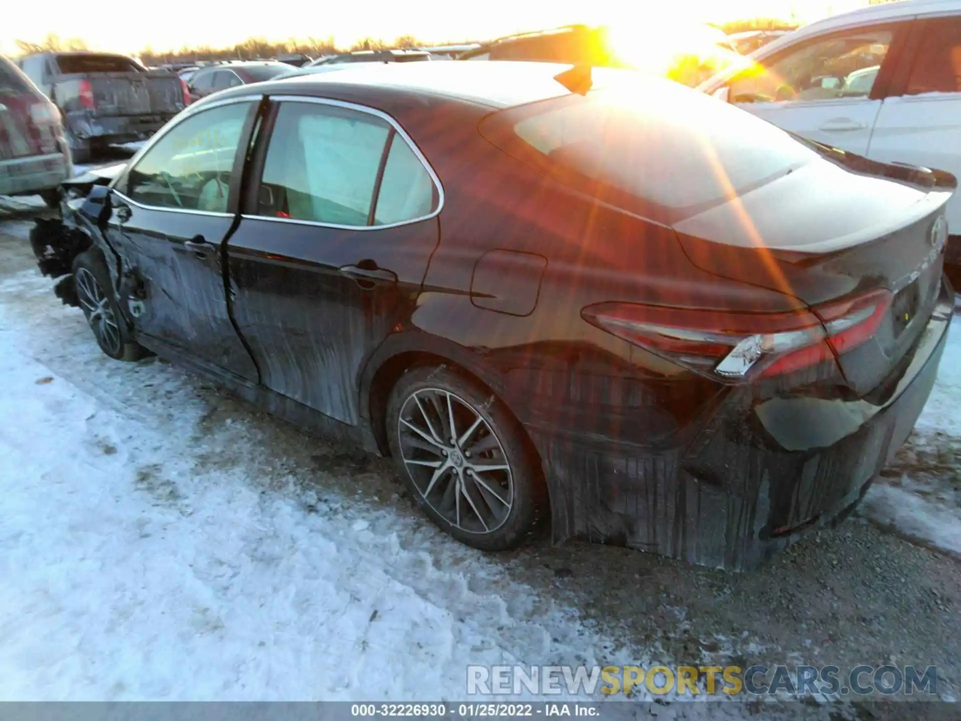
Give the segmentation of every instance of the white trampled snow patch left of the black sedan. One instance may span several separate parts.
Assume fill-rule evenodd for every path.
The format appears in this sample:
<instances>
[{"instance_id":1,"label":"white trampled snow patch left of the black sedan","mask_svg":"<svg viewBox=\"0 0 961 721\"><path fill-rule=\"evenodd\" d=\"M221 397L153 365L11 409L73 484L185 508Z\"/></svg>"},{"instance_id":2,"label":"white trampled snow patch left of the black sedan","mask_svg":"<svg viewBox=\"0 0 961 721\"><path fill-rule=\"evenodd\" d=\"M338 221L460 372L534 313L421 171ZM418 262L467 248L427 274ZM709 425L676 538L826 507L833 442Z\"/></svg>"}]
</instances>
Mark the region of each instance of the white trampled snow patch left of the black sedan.
<instances>
[{"instance_id":1,"label":"white trampled snow patch left of the black sedan","mask_svg":"<svg viewBox=\"0 0 961 721\"><path fill-rule=\"evenodd\" d=\"M15 277L0 295L44 285ZM261 466L283 458L164 363L75 342L33 360L63 342L51 328L81 330L51 315L34 333L37 318L0 305L0 577L16 579L0 584L3 697L457 697L464 659L573 662L607 642L378 509L399 487L367 492L359 472L332 491L323 468L319 485L295 468L265 483ZM127 376L122 394L78 383L77 367ZM156 414L132 407L144 394ZM318 444L319 465L331 454Z\"/></svg>"}]
</instances>

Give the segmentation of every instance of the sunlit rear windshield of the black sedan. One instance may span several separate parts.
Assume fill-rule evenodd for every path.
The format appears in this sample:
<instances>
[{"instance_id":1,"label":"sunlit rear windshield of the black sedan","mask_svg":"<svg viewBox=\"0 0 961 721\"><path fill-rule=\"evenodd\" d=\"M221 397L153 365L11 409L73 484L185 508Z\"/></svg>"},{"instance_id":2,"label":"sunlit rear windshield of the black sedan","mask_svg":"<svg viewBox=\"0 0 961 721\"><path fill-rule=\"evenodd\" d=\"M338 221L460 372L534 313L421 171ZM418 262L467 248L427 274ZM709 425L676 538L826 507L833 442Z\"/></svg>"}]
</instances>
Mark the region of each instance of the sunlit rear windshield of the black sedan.
<instances>
[{"instance_id":1,"label":"sunlit rear windshield of the black sedan","mask_svg":"<svg viewBox=\"0 0 961 721\"><path fill-rule=\"evenodd\" d=\"M626 210L653 205L674 216L764 185L818 157L747 112L659 81L499 112L481 132L562 183L621 207L627 199Z\"/></svg>"}]
</instances>

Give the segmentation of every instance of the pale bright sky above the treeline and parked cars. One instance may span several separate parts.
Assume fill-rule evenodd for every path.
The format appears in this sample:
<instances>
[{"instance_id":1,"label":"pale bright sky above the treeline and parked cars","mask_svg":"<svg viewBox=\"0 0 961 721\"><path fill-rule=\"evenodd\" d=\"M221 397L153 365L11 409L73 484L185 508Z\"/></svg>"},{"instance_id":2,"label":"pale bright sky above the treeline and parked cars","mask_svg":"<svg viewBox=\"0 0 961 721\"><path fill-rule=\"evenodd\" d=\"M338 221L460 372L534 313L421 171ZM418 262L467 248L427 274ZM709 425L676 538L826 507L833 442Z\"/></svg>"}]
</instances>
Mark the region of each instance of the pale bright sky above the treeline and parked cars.
<instances>
[{"instance_id":1,"label":"pale bright sky above the treeline and parked cars","mask_svg":"<svg viewBox=\"0 0 961 721\"><path fill-rule=\"evenodd\" d=\"M465 4L451 0L365 0L317 2L282 0L264 12L263 3L250 0L170 4L156 2L78 3L44 0L3 11L0 53L15 55L17 38L41 41L48 33L62 39L79 37L89 47L136 53L146 46L155 51L184 45L230 46L246 37L282 40L291 37L333 36L338 45L362 37L393 40L413 35L428 42L487 39L567 23L614 22L636 24L639 33L656 23L723 22L754 16L789 18L794 12L810 22L836 12L867 5L868 0L669 0L628 3L627 0L484 0ZM638 8L637 6L642 6ZM83 11L78 12L78 7ZM123 8L121 11L120 9Z\"/></svg>"}]
</instances>

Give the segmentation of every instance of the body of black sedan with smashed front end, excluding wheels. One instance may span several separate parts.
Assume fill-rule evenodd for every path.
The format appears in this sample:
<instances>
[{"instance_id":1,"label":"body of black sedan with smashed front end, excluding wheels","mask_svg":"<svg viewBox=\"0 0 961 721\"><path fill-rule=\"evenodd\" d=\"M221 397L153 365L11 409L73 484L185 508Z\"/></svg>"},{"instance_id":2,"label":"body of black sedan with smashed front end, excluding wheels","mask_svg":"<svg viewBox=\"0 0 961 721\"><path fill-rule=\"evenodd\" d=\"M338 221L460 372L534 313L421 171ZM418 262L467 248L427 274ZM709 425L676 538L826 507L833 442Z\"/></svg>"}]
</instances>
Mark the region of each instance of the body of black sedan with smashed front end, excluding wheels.
<instances>
[{"instance_id":1,"label":"body of black sedan with smashed front end, excluding wheels","mask_svg":"<svg viewBox=\"0 0 961 721\"><path fill-rule=\"evenodd\" d=\"M670 84L420 64L192 106L67 191L41 268L96 244L138 342L375 452L410 370L456 369L555 541L742 570L843 519L934 383L954 179Z\"/></svg>"}]
</instances>

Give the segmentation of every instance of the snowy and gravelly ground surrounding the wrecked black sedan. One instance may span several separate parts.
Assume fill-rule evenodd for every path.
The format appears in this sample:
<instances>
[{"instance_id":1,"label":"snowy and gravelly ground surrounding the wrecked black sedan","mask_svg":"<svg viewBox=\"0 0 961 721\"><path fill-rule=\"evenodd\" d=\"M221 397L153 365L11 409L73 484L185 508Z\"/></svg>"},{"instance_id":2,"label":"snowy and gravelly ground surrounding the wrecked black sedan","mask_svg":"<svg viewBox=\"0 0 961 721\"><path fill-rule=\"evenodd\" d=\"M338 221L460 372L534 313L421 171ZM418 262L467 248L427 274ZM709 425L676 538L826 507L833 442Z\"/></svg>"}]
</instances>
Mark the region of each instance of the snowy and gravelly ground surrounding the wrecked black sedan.
<instances>
[{"instance_id":1,"label":"snowy and gravelly ground surrounding the wrecked black sedan","mask_svg":"<svg viewBox=\"0 0 961 721\"><path fill-rule=\"evenodd\" d=\"M0 222L0 701L462 700L467 663L896 656L941 664L956 695L953 561L857 519L753 574L576 544L480 554L435 531L386 461L160 360L103 356L33 266L31 225ZM948 551L958 360L955 327L863 511Z\"/></svg>"}]
</instances>

